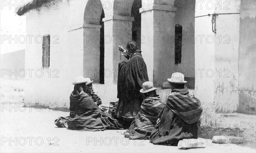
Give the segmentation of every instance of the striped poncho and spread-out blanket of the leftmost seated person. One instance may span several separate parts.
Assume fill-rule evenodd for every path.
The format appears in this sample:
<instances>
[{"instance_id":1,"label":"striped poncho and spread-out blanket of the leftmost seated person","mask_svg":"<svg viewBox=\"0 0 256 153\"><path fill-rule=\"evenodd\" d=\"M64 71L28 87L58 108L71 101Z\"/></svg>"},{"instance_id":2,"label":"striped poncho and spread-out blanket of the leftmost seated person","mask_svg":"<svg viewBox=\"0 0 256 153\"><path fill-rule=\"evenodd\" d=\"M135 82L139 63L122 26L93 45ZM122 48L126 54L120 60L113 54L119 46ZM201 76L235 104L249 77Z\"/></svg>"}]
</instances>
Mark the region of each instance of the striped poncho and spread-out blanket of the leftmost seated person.
<instances>
[{"instance_id":1,"label":"striped poncho and spread-out blanket of the leftmost seated person","mask_svg":"<svg viewBox=\"0 0 256 153\"><path fill-rule=\"evenodd\" d=\"M97 96L96 99L100 99ZM70 95L70 116L59 117L55 120L58 127L67 127L70 130L122 130L122 122L108 113L104 113L95 104L95 98L84 91L79 95Z\"/></svg>"}]
</instances>

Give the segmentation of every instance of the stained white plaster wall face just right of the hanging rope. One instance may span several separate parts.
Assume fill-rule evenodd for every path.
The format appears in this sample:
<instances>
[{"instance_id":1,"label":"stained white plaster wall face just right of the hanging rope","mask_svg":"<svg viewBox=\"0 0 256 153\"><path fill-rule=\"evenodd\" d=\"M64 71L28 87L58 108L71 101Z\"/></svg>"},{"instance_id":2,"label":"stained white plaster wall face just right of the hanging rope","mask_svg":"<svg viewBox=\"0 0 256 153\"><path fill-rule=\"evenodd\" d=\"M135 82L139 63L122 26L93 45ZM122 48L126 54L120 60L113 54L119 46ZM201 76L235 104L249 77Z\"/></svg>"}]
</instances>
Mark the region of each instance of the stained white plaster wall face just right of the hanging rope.
<instances>
[{"instance_id":1,"label":"stained white plaster wall face just right of the hanging rope","mask_svg":"<svg viewBox=\"0 0 256 153\"><path fill-rule=\"evenodd\" d=\"M239 60L239 15L220 15L216 27L221 37L230 37L230 43L215 43L215 99L221 105L217 112L233 113L238 109L238 60ZM232 28L230 27L232 25ZM224 28L230 27L230 28ZM221 74L218 71L221 70ZM228 105L228 108L223 108Z\"/></svg>"}]
</instances>

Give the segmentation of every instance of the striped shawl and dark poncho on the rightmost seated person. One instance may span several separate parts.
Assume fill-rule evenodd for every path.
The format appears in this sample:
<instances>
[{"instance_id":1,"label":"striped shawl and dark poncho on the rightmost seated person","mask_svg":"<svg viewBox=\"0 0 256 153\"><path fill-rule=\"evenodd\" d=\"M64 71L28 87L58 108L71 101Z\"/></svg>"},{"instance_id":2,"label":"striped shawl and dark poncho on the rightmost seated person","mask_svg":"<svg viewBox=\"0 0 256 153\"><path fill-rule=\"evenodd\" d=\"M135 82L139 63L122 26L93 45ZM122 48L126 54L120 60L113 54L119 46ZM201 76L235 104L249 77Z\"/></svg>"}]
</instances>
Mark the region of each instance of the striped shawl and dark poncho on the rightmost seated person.
<instances>
[{"instance_id":1,"label":"striped shawl and dark poncho on the rightmost seated person","mask_svg":"<svg viewBox=\"0 0 256 153\"><path fill-rule=\"evenodd\" d=\"M187 89L172 90L159 114L160 123L152 130L150 142L177 145L182 139L197 139L201 113L199 99L191 98Z\"/></svg>"}]
</instances>

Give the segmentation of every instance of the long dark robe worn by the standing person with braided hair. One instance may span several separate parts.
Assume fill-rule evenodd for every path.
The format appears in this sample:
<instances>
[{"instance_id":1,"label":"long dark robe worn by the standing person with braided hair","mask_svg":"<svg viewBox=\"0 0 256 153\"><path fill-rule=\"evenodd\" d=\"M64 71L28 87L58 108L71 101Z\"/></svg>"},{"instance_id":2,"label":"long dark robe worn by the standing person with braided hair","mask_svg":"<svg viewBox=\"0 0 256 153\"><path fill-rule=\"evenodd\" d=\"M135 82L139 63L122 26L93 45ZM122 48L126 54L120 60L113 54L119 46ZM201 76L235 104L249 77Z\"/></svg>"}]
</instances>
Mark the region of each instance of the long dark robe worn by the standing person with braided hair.
<instances>
[{"instance_id":1,"label":"long dark robe worn by the standing person with braided hair","mask_svg":"<svg viewBox=\"0 0 256 153\"><path fill-rule=\"evenodd\" d=\"M118 65L117 98L119 98L116 109L117 117L135 118L140 111L143 102L143 82L148 81L147 66L142 55L137 52L127 62Z\"/></svg>"}]
</instances>

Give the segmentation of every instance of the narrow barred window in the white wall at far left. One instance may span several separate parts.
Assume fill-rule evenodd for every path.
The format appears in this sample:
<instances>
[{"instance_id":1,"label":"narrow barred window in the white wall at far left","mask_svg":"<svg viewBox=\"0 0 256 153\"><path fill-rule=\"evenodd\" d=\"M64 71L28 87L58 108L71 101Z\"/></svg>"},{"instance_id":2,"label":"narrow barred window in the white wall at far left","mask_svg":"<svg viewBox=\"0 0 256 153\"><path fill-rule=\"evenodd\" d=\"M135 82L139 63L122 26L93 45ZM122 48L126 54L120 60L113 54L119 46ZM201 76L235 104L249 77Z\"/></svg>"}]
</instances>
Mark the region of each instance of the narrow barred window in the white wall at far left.
<instances>
[{"instance_id":1,"label":"narrow barred window in the white wall at far left","mask_svg":"<svg viewBox=\"0 0 256 153\"><path fill-rule=\"evenodd\" d=\"M43 36L43 57L42 57L42 64L43 69L49 68L50 66L50 35Z\"/></svg>"}]
</instances>

